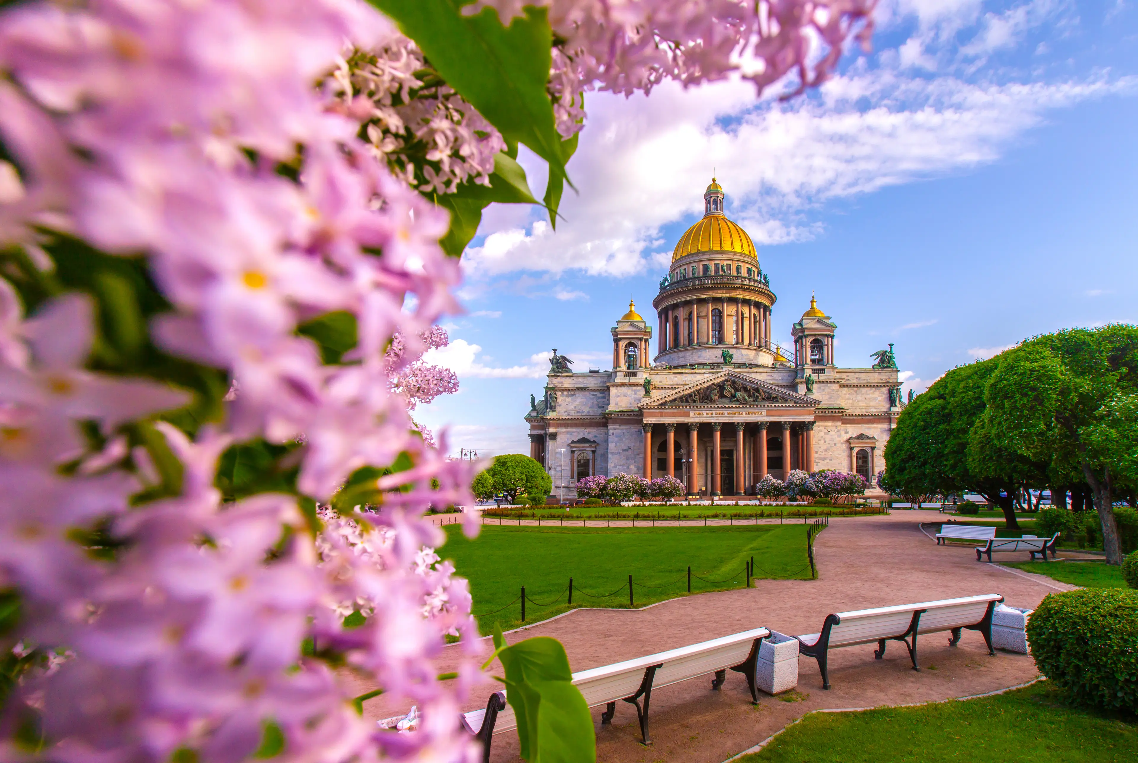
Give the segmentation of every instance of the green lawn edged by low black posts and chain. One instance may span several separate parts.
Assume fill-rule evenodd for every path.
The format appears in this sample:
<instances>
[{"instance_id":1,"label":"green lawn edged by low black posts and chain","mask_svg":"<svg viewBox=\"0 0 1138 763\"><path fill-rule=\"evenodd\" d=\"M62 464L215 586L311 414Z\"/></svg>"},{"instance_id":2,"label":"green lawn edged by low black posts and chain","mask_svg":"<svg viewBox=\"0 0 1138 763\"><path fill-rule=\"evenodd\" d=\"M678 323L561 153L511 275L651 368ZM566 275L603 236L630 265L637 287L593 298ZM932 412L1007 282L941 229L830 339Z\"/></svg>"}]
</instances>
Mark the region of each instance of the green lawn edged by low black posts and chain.
<instances>
[{"instance_id":1,"label":"green lawn edged by low black posts and chain","mask_svg":"<svg viewBox=\"0 0 1138 763\"><path fill-rule=\"evenodd\" d=\"M654 529L487 524L475 540L462 534L461 525L443 530L447 541L438 553L470 580L475 616L484 633L495 622L503 630L520 624L521 604L514 600L522 586L530 599L526 622L566 612L570 577L572 605L599 607L628 606L629 574L636 606L684 596L687 565L693 594L741 588L752 556L758 578L810 578L807 530L801 524Z\"/></svg>"}]
</instances>

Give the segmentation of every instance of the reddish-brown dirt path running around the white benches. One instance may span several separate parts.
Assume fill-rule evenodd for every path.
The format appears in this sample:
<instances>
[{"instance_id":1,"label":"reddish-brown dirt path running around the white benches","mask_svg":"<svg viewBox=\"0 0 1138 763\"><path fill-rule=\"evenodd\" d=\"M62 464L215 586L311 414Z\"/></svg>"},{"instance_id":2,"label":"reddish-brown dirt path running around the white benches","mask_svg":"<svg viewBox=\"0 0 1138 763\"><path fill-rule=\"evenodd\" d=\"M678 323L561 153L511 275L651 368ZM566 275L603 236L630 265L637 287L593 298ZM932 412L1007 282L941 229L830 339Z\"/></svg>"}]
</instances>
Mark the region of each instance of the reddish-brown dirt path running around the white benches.
<instances>
[{"instance_id":1,"label":"reddish-brown dirt path running around the white benches","mask_svg":"<svg viewBox=\"0 0 1138 763\"><path fill-rule=\"evenodd\" d=\"M757 580L751 589L701 594L643 609L575 609L506 638L513 642L552 636L564 645L572 670L580 671L758 627L787 635L813 633L831 612L980 594L1001 594L1009 606L1034 607L1047 594L1073 588L1042 575L976 562L972 545L938 546L921 531L920 523L943 519L930 511L832 519L815 544L818 580ZM1028 558L1026 553L1003 556L1007 558L1001 561ZM760 559L756 563L761 567ZM866 645L831 652L828 691L822 688L817 663L800 657L797 691L760 695L757 706L750 703L745 679L732 672L720 691L710 690L710 675L655 690L650 747L640 744L635 707L617 703L616 716L605 727L600 724L603 707L596 707L597 760L719 763L814 710L964 697L1038 675L1028 655L997 652L989 656L983 638L974 631L964 631L957 647L948 646L947 633L922 637L920 672L912 669L901 644L890 642L882 661L873 658L873 649L874 645ZM439 670L448 670L460 658L457 647L447 647ZM360 690L369 688L361 685ZM494 688L476 691L465 710L485 706ZM405 710L382 698L365 705L366 716L374 719ZM497 735L490 760L520 760L517 735Z\"/></svg>"}]
</instances>

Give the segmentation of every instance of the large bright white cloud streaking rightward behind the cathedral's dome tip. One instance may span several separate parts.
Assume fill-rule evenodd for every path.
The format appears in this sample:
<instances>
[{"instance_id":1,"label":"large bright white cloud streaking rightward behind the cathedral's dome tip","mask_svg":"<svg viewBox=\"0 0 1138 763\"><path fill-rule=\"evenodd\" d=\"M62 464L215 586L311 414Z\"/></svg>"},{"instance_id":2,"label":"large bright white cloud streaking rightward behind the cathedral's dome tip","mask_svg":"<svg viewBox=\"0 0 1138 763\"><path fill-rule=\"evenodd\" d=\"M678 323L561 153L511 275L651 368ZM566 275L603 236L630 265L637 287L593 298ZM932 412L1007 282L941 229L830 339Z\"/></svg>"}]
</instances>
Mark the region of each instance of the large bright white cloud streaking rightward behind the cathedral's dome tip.
<instances>
[{"instance_id":1,"label":"large bright white cloud streaking rightward behind the cathedral's dome tip","mask_svg":"<svg viewBox=\"0 0 1138 763\"><path fill-rule=\"evenodd\" d=\"M1102 77L976 84L852 69L816 97L784 105L757 102L753 88L737 81L687 91L665 83L650 98L592 96L569 165L579 194L566 192L556 232L536 218L484 225L488 235L468 250L464 269L475 277L567 269L619 276L663 267L674 237L662 242L661 229L702 213L712 167L728 214L756 243L807 240L819 225L805 215L820 201L990 163L1048 109L1133 86Z\"/></svg>"}]
</instances>

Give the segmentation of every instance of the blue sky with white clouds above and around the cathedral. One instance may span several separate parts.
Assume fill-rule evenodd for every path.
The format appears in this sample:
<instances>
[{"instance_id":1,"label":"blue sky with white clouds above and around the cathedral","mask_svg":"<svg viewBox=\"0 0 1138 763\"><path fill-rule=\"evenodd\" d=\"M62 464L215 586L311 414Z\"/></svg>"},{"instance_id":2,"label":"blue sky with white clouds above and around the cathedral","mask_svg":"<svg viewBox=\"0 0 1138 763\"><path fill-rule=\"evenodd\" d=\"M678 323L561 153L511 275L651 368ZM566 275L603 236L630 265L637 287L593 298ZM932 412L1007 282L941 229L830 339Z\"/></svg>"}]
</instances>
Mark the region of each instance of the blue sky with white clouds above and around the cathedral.
<instances>
[{"instance_id":1,"label":"blue sky with white clouds above and around the cathedral","mask_svg":"<svg viewBox=\"0 0 1138 763\"><path fill-rule=\"evenodd\" d=\"M592 94L564 221L488 210L463 258L468 313L434 356L461 389L417 417L455 451L528 453L543 358L608 368L629 295L654 324L712 167L770 276L775 339L814 291L839 365L894 342L920 392L1032 334L1138 322L1136 5L893 0L873 53L789 103L740 82Z\"/></svg>"}]
</instances>

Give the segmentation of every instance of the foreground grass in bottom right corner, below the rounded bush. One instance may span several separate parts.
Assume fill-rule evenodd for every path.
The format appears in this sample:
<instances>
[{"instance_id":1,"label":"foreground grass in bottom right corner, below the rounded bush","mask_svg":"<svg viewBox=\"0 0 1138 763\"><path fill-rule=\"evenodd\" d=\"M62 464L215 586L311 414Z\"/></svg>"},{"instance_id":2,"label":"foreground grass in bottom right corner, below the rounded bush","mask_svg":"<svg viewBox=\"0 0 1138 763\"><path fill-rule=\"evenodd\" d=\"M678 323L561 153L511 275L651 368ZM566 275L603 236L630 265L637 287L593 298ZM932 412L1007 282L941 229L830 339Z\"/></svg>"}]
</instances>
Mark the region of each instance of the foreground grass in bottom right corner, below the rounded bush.
<instances>
[{"instance_id":1,"label":"foreground grass in bottom right corner, below the rounded bush","mask_svg":"<svg viewBox=\"0 0 1138 763\"><path fill-rule=\"evenodd\" d=\"M1135 750L1132 715L1072 707L1061 690L1040 681L966 702L814 713L740 763L1114 763L1135 760Z\"/></svg>"}]
</instances>

